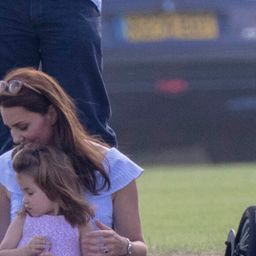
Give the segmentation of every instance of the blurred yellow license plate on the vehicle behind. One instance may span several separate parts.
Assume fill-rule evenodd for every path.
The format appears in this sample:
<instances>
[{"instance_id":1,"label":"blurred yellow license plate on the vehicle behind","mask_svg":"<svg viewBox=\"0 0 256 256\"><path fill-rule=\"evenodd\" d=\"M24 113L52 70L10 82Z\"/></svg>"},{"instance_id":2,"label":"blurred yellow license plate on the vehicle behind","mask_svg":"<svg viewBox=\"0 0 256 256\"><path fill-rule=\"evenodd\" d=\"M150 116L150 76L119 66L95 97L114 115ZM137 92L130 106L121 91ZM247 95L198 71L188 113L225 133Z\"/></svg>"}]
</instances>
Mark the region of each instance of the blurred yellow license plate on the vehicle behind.
<instances>
[{"instance_id":1,"label":"blurred yellow license plate on the vehicle behind","mask_svg":"<svg viewBox=\"0 0 256 256\"><path fill-rule=\"evenodd\" d=\"M218 38L218 19L212 13L133 14L125 20L125 37L132 42Z\"/></svg>"}]
</instances>

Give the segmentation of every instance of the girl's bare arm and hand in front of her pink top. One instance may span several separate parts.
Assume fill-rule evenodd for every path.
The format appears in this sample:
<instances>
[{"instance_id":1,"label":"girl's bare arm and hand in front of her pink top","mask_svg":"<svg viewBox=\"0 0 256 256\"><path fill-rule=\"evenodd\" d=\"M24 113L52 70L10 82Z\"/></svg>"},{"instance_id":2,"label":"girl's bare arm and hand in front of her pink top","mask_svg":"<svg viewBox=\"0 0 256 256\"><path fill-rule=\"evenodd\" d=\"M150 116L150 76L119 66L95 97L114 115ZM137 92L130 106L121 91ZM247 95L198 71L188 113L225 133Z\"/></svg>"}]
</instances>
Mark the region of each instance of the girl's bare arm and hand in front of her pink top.
<instances>
[{"instance_id":1,"label":"girl's bare arm and hand in front of her pink top","mask_svg":"<svg viewBox=\"0 0 256 256\"><path fill-rule=\"evenodd\" d=\"M30 256L45 249L45 236L34 236L27 245L17 248L22 238L26 216L16 216L0 244L0 256Z\"/></svg>"}]
</instances>

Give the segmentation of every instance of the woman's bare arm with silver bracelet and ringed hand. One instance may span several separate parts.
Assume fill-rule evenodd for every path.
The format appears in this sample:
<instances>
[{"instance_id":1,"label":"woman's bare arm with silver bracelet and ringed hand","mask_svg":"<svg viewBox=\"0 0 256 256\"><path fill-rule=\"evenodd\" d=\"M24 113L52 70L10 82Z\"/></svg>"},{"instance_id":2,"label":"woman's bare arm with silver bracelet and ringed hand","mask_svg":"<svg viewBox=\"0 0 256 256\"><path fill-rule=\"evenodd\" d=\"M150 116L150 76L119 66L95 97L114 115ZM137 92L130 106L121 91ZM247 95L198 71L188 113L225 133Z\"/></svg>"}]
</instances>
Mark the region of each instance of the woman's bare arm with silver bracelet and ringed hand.
<instances>
[{"instance_id":1,"label":"woman's bare arm with silver bracelet and ringed hand","mask_svg":"<svg viewBox=\"0 0 256 256\"><path fill-rule=\"evenodd\" d=\"M135 180L114 194L113 218L115 231L96 220L100 230L86 234L83 246L87 249L87 256L98 256L105 250L109 256L127 255L126 237L131 241L132 256L146 256L147 245L141 230Z\"/></svg>"}]
</instances>

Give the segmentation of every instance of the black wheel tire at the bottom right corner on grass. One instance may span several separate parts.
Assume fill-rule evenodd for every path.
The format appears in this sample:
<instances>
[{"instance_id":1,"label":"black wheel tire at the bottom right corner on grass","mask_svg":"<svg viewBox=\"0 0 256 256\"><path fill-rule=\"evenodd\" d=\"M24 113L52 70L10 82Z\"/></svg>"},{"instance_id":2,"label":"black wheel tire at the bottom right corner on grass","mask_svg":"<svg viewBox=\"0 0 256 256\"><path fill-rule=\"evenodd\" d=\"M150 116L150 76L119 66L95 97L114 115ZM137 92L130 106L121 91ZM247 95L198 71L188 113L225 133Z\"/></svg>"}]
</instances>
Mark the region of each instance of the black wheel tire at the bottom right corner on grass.
<instances>
[{"instance_id":1,"label":"black wheel tire at the bottom right corner on grass","mask_svg":"<svg viewBox=\"0 0 256 256\"><path fill-rule=\"evenodd\" d=\"M234 256L256 256L256 206L248 207L239 223Z\"/></svg>"}]
</instances>

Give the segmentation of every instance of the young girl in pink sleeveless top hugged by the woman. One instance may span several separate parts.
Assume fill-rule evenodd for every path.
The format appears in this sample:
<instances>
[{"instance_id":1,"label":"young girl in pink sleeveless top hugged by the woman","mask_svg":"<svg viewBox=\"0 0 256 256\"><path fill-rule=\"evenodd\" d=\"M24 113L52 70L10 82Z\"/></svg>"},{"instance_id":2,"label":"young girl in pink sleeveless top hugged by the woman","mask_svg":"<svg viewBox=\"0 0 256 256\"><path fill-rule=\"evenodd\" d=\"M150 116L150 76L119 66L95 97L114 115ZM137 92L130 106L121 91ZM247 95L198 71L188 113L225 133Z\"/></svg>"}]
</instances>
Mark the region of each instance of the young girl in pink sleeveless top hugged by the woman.
<instances>
[{"instance_id":1,"label":"young girl in pink sleeveless top hugged by the woman","mask_svg":"<svg viewBox=\"0 0 256 256\"><path fill-rule=\"evenodd\" d=\"M93 227L94 211L84 200L66 154L51 147L22 149L13 157L15 179L23 192L18 212L0 244L0 255L85 255L79 241Z\"/></svg>"}]
</instances>

